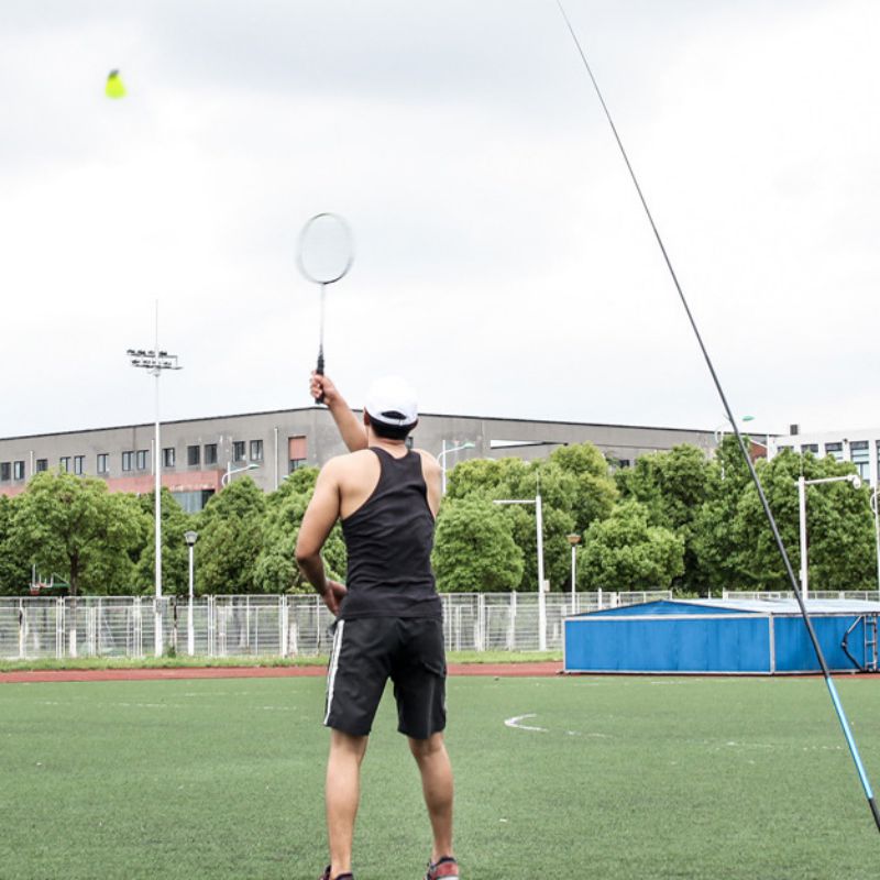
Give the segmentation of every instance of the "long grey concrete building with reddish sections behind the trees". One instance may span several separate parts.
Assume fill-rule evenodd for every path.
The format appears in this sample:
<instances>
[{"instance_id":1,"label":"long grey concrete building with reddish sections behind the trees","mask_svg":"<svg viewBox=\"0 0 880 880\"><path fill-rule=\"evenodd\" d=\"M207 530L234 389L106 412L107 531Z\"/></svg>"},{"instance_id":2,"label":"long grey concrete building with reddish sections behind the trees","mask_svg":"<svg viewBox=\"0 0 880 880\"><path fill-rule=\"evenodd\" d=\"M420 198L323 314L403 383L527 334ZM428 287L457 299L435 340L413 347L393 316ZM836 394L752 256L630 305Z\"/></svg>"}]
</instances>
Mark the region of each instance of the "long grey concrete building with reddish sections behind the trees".
<instances>
[{"instance_id":1,"label":"long grey concrete building with reddish sections behind the trees","mask_svg":"<svg viewBox=\"0 0 880 880\"><path fill-rule=\"evenodd\" d=\"M679 443L707 455L715 446L712 431L430 413L421 414L413 441L448 469L472 458L542 458L566 443L594 443L619 466ZM113 491L152 492L153 442L153 424L0 439L0 494L15 495L33 474L58 468L100 476ZM271 492L297 468L345 451L329 410L319 406L165 421L161 443L162 485L190 512L245 470Z\"/></svg>"}]
</instances>

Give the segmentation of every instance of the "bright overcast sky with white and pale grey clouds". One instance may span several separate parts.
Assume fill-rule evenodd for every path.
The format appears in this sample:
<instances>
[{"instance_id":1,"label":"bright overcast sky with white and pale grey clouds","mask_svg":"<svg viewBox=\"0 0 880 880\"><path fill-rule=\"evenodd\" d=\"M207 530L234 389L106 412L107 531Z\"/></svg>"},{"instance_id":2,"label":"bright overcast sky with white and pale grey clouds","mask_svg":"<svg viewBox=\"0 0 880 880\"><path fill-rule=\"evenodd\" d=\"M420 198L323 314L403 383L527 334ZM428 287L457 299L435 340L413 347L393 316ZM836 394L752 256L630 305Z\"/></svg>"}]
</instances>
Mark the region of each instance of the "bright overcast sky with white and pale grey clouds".
<instances>
[{"instance_id":1,"label":"bright overcast sky with white and pale grey clouds","mask_svg":"<svg viewBox=\"0 0 880 880\"><path fill-rule=\"evenodd\" d=\"M730 404L880 425L876 0L566 0ZM105 97L119 68L128 97ZM309 405L723 410L554 0L4 0L0 436Z\"/></svg>"}]
</instances>

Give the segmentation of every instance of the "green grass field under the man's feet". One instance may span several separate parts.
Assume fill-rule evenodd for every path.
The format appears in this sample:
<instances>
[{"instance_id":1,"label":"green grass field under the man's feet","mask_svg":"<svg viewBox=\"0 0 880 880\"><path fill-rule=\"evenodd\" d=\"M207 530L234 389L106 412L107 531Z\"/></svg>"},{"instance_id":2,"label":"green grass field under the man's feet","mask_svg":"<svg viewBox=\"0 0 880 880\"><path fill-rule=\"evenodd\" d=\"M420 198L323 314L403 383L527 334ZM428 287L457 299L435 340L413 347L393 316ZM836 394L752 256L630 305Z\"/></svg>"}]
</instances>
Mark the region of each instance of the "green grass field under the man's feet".
<instances>
[{"instance_id":1,"label":"green grass field under the man's feet","mask_svg":"<svg viewBox=\"0 0 880 880\"><path fill-rule=\"evenodd\" d=\"M880 783L880 681L839 690ZM428 855L389 696L359 880L417 880ZM322 706L321 679L0 685L0 877L316 880ZM462 678L449 710L465 880L880 873L821 680Z\"/></svg>"}]
</instances>

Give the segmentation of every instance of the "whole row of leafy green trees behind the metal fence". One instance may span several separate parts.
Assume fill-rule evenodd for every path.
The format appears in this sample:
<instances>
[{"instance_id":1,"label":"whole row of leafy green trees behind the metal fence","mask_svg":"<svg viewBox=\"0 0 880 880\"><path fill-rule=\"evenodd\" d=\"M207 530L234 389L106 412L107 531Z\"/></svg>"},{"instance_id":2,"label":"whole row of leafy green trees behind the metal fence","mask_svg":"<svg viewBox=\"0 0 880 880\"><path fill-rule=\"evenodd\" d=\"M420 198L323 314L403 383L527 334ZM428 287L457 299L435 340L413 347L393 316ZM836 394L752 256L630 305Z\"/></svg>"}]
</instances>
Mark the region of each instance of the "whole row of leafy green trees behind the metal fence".
<instances>
[{"instance_id":1,"label":"whole row of leafy green trees behind the metal fence","mask_svg":"<svg viewBox=\"0 0 880 880\"><path fill-rule=\"evenodd\" d=\"M795 571L798 476L840 476L853 465L783 452L757 463ZM307 591L294 548L314 492L316 469L293 473L273 493L234 481L196 515L166 490L162 499L163 588L187 592L184 532L196 543L198 594ZM612 473L590 444L547 459L507 458L459 464L449 475L433 553L443 592L536 591L535 499L543 513L544 576L571 586L570 535L579 590L785 590L782 562L735 438L714 459L689 446L637 460ZM499 504L499 502L505 502ZM517 502L512 504L510 502ZM809 488L810 575L814 590L875 588L870 488L848 482ZM28 591L32 566L72 593L150 594L154 580L153 496L112 494L92 477L36 475L14 498L0 496L0 593ZM339 526L324 560L344 580Z\"/></svg>"}]
</instances>

